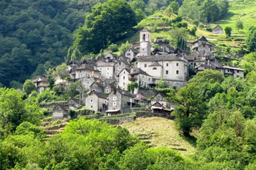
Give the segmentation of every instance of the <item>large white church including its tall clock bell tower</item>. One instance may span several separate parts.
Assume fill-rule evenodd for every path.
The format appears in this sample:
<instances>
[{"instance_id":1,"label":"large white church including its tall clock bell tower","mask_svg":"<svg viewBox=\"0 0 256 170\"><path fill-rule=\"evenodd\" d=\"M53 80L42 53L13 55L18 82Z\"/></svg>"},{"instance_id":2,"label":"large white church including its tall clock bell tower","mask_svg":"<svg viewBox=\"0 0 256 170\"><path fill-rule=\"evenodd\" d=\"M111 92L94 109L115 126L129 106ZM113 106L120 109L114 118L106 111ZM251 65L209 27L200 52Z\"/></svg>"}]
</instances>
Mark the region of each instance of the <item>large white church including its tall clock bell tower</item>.
<instances>
[{"instance_id":1,"label":"large white church including its tall clock bell tower","mask_svg":"<svg viewBox=\"0 0 256 170\"><path fill-rule=\"evenodd\" d=\"M140 31L140 53L137 68L151 75L154 80L163 78L168 85L181 87L188 79L189 63L184 54L151 55L151 32Z\"/></svg>"}]
</instances>

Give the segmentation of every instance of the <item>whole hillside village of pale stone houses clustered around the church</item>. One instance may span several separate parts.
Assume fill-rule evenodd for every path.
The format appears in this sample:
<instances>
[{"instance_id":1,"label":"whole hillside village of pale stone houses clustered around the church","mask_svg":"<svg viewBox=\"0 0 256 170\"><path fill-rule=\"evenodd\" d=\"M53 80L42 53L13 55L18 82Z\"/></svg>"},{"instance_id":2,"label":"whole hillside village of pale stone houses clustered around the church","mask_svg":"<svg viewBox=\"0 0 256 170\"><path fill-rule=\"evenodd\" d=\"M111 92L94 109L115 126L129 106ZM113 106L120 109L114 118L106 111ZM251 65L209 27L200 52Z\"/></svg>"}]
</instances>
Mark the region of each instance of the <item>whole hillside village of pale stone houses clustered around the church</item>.
<instances>
[{"instance_id":1,"label":"whole hillside village of pale stone houses clustered around the church","mask_svg":"<svg viewBox=\"0 0 256 170\"><path fill-rule=\"evenodd\" d=\"M213 31L221 31L217 26ZM218 32L216 32L218 34ZM158 44L153 48L151 44ZM164 79L169 87L180 88L199 71L213 69L234 78L244 77L241 68L222 65L213 53L215 45L206 37L187 42L190 51L173 48L161 39L151 41L151 32L144 28L140 31L139 43L128 48L124 56L108 52L104 57L72 60L69 63L69 80L57 77L56 85L66 87L70 82L80 82L84 89L79 99L71 98L67 103L53 108L52 119L62 119L70 109L85 106L92 113L115 115L131 113L133 108L169 114L175 109L165 99L165 94L154 91L157 81ZM193 68L193 73L189 73ZM38 93L48 87L47 76L33 78ZM131 85L132 88L128 89Z\"/></svg>"}]
</instances>

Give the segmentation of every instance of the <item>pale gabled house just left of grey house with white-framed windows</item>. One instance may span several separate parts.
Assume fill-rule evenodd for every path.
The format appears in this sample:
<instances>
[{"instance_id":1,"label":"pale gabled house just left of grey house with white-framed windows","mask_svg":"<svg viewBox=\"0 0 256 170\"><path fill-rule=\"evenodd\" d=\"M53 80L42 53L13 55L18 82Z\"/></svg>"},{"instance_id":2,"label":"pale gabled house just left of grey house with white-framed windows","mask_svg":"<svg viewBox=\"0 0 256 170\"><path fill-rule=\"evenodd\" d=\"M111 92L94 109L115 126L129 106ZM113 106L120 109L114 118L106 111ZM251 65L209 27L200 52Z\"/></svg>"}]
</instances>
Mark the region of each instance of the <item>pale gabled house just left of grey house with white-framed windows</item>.
<instances>
[{"instance_id":1,"label":"pale gabled house just left of grey house with white-framed windows","mask_svg":"<svg viewBox=\"0 0 256 170\"><path fill-rule=\"evenodd\" d=\"M96 112L104 112L108 105L108 95L97 91L90 91L85 99L87 109Z\"/></svg>"}]
</instances>

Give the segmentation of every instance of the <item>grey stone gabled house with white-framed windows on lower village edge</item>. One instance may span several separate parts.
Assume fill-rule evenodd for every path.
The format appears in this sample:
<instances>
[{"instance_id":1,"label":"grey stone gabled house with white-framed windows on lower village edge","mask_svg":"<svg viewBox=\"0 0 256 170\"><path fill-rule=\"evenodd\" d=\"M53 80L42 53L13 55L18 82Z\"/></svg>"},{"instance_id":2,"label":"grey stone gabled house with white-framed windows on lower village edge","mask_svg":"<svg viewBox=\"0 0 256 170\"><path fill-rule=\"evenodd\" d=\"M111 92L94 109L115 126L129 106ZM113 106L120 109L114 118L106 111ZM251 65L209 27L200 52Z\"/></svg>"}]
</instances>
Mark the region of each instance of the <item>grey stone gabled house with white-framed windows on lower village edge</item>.
<instances>
[{"instance_id":1,"label":"grey stone gabled house with white-framed windows on lower village edge","mask_svg":"<svg viewBox=\"0 0 256 170\"><path fill-rule=\"evenodd\" d=\"M108 111L106 113L124 113L125 109L129 109L133 105L135 105L134 96L130 92L115 88L108 95Z\"/></svg>"}]
</instances>

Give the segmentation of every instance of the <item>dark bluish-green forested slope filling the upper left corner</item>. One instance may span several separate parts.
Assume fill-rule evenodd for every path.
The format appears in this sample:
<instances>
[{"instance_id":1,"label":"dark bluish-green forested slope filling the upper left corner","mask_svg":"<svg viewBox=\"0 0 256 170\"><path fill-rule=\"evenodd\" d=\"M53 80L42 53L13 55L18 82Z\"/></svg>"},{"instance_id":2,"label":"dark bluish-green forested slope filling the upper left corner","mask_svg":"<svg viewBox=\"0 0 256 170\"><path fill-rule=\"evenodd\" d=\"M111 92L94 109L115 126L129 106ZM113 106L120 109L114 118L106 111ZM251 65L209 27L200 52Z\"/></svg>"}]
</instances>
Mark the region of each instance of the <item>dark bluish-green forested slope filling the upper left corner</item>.
<instances>
[{"instance_id":1,"label":"dark bluish-green forested slope filling the upper left corner","mask_svg":"<svg viewBox=\"0 0 256 170\"><path fill-rule=\"evenodd\" d=\"M64 62L73 31L98 2L105 0L1 0L0 82L24 82Z\"/></svg>"}]
</instances>

